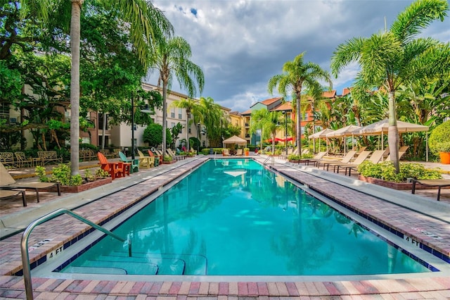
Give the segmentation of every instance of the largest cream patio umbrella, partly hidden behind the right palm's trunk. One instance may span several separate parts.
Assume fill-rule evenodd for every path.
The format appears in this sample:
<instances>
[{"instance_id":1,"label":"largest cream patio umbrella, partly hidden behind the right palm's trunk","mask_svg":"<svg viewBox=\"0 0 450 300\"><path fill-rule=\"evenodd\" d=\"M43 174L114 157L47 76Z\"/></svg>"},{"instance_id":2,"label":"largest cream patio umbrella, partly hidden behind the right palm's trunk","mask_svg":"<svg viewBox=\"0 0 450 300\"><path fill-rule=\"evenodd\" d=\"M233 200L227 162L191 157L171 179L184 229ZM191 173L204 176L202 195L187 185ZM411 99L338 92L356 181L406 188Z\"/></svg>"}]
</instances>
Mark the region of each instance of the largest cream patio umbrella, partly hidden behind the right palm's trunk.
<instances>
[{"instance_id":1,"label":"largest cream patio umbrella, partly hidden behind the right palm's trunk","mask_svg":"<svg viewBox=\"0 0 450 300\"><path fill-rule=\"evenodd\" d=\"M406 132L420 132L420 131L428 131L430 127L420 124L408 123L397 120L397 129L399 133ZM384 149L384 139L383 135L387 133L389 130L389 120L384 119L378 122L372 123L371 125L367 125L356 129L353 131L354 135L381 135L381 148ZM428 161L428 135L425 136L426 139L426 161Z\"/></svg>"}]
</instances>

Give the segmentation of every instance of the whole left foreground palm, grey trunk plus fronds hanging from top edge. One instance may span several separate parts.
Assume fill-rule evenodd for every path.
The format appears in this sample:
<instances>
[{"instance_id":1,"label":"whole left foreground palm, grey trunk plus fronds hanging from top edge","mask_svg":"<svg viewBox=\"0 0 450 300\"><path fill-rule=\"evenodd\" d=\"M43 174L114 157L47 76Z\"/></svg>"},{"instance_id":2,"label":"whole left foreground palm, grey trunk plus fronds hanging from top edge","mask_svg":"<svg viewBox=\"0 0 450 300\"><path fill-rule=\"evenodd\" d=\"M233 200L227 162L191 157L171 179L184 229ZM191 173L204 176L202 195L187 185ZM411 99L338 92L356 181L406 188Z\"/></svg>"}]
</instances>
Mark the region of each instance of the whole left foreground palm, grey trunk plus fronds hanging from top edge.
<instances>
[{"instance_id":1,"label":"whole left foreground palm, grey trunk plus fronds hanging from top edge","mask_svg":"<svg viewBox=\"0 0 450 300\"><path fill-rule=\"evenodd\" d=\"M35 13L43 20L43 24L49 22L48 12L52 8L60 8L62 12L71 9L70 18L70 51L72 68L70 71L70 161L71 173L79 173L79 39L80 39L80 15L85 0L19 0L25 12ZM86 0L89 1L89 0ZM4 5L8 0L0 0ZM103 4L114 8L118 16L129 23L131 41L136 53L143 65L147 65L147 57L162 37L169 36L173 27L165 15L146 0L102 0ZM61 13L65 16L65 13Z\"/></svg>"}]
</instances>

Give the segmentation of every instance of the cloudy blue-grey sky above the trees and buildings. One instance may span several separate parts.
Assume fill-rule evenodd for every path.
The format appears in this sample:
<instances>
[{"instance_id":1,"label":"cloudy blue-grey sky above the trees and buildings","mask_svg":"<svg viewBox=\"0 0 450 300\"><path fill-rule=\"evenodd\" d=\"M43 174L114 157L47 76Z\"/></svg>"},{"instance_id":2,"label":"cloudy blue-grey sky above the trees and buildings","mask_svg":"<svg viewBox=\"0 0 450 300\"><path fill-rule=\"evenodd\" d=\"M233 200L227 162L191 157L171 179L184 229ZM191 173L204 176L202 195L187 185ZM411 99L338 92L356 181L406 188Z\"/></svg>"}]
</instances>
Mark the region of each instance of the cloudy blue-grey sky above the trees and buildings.
<instances>
[{"instance_id":1,"label":"cloudy blue-grey sky above the trees and buildings","mask_svg":"<svg viewBox=\"0 0 450 300\"><path fill-rule=\"evenodd\" d=\"M283 63L306 52L304 61L330 70L339 44L369 37L390 27L410 0L155 0L181 36L191 45L191 61L202 68L210 96L233 111L246 111L271 98L267 82L281 74ZM435 21L423 35L450 41L450 16ZM333 79L342 94L352 85L357 65ZM153 75L152 77L155 77ZM154 79L150 83L156 84ZM174 80L172 89L186 94ZM274 91L274 96L278 96Z\"/></svg>"}]
</instances>

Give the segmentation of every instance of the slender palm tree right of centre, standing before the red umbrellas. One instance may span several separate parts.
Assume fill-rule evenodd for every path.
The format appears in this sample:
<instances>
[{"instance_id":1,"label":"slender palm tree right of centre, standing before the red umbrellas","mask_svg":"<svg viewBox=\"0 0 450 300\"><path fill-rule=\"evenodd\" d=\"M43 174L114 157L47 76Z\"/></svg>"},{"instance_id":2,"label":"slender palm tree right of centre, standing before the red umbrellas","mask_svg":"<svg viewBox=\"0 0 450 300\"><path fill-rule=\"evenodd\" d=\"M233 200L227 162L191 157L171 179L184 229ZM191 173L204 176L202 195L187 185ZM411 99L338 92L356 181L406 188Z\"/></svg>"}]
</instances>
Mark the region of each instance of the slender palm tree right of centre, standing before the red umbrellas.
<instances>
[{"instance_id":1,"label":"slender palm tree right of centre, standing before the red umbrellas","mask_svg":"<svg viewBox=\"0 0 450 300\"><path fill-rule=\"evenodd\" d=\"M288 94L295 96L296 102L296 134L297 134L297 150L301 153L302 149L302 131L300 113L302 89L307 88L314 95L314 98L319 98L322 94L322 86L319 80L324 80L328 83L330 89L333 86L330 75L323 70L316 63L304 63L303 56L305 52L297 55L293 61L288 61L283 65L283 74L271 77L268 84L269 93L272 94L276 85L278 85L278 92L287 97Z\"/></svg>"}]
</instances>

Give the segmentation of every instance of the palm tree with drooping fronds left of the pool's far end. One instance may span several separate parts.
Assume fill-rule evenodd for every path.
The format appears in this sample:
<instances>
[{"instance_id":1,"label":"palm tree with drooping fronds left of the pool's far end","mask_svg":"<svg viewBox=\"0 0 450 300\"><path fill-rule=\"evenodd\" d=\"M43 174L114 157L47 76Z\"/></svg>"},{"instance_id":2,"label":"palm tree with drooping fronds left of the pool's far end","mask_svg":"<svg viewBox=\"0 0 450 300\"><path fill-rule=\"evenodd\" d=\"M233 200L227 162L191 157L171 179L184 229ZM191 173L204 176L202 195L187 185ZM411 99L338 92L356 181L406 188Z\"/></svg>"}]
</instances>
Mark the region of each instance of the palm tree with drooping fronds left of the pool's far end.
<instances>
[{"instance_id":1,"label":"palm tree with drooping fronds left of the pool's far end","mask_svg":"<svg viewBox=\"0 0 450 300\"><path fill-rule=\"evenodd\" d=\"M158 87L162 87L162 153L166 151L167 89L172 86L173 78L176 77L181 88L188 90L190 97L197 93L195 82L200 93L203 92L205 77L200 67L189 60L191 56L191 46L182 37L162 40L150 55L150 68L158 71Z\"/></svg>"}]
</instances>

